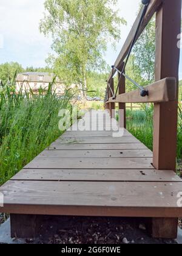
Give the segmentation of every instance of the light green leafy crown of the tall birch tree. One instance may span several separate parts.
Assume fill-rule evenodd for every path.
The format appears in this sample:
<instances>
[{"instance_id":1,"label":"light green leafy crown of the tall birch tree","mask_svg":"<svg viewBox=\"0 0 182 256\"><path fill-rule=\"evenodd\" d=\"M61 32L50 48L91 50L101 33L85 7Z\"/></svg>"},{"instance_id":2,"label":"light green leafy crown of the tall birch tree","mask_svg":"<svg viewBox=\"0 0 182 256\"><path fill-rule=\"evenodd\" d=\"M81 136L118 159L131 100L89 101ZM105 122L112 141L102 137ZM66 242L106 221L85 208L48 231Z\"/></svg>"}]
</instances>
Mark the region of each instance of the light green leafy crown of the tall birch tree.
<instances>
[{"instance_id":1,"label":"light green leafy crown of the tall birch tree","mask_svg":"<svg viewBox=\"0 0 182 256\"><path fill-rule=\"evenodd\" d=\"M117 0L46 0L40 30L52 34L52 49L48 63L67 84L80 84L87 89L87 75L106 67L103 53L107 42L120 39L121 24L113 10Z\"/></svg>"}]
</instances>

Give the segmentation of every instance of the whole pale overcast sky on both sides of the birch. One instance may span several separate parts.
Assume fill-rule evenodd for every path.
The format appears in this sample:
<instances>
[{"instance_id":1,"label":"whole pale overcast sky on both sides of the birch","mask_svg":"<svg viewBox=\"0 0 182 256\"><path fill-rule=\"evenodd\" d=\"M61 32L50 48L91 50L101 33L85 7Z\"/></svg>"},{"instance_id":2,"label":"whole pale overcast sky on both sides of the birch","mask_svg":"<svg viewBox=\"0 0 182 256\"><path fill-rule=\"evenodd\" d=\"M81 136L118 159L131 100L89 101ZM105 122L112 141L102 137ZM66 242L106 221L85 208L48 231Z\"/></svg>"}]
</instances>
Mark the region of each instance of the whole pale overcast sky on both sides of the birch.
<instances>
[{"instance_id":1,"label":"whole pale overcast sky on both sides of the birch","mask_svg":"<svg viewBox=\"0 0 182 256\"><path fill-rule=\"evenodd\" d=\"M127 21L122 26L122 40L117 43L116 51L109 46L106 61L115 62L127 34L136 18L141 0L119 0L120 14ZM51 38L39 33L39 20L44 12L44 0L1 0L0 5L0 63L19 62L26 66L45 66L45 59L51 52ZM182 79L182 52L180 64Z\"/></svg>"}]
</instances>

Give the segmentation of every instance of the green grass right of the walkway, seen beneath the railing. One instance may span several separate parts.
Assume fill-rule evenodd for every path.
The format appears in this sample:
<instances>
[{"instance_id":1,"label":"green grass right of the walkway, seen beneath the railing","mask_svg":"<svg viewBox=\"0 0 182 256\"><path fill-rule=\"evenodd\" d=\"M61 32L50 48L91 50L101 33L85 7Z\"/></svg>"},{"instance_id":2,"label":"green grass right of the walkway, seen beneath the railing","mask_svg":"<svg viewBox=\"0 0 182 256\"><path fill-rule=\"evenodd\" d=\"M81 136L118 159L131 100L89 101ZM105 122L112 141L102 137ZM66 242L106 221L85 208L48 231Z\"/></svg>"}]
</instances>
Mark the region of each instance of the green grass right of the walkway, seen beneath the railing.
<instances>
[{"instance_id":1,"label":"green grass right of the walkway, seen beneath the railing","mask_svg":"<svg viewBox=\"0 0 182 256\"><path fill-rule=\"evenodd\" d=\"M127 110L127 129L149 149L153 149L153 105ZM177 159L182 158L182 108L178 108Z\"/></svg>"}]
</instances>

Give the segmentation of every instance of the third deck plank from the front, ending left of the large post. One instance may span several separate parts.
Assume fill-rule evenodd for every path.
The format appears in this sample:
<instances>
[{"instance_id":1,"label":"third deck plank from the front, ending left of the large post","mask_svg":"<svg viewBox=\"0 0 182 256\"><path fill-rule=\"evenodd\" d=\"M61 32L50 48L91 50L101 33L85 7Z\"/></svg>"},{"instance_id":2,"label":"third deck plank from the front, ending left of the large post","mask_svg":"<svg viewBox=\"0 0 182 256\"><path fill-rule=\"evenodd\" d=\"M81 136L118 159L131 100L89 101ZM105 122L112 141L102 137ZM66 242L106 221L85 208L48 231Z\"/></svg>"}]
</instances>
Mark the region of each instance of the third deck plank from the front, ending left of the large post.
<instances>
[{"instance_id":1,"label":"third deck plank from the front, ending left of the large post","mask_svg":"<svg viewBox=\"0 0 182 256\"><path fill-rule=\"evenodd\" d=\"M152 158L35 158L25 169L153 169Z\"/></svg>"}]
</instances>

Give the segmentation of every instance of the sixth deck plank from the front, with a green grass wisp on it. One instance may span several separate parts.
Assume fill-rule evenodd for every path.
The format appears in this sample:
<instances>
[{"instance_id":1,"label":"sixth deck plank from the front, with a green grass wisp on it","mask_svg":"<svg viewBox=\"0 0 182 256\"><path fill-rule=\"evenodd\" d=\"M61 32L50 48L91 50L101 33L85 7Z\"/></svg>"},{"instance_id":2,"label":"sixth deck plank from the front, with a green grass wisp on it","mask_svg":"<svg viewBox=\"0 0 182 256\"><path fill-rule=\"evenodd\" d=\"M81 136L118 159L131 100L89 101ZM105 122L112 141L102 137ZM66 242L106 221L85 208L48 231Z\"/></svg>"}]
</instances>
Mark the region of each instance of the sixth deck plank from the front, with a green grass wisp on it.
<instances>
[{"instance_id":1,"label":"sixth deck plank from the front, with a green grass wisp on it","mask_svg":"<svg viewBox=\"0 0 182 256\"><path fill-rule=\"evenodd\" d=\"M117 135L117 133L116 133ZM120 135L120 133L118 133ZM128 137L67 137L67 138L58 138L55 143L59 144L104 144L104 143L140 143L133 136Z\"/></svg>"}]
</instances>

